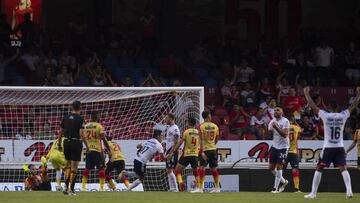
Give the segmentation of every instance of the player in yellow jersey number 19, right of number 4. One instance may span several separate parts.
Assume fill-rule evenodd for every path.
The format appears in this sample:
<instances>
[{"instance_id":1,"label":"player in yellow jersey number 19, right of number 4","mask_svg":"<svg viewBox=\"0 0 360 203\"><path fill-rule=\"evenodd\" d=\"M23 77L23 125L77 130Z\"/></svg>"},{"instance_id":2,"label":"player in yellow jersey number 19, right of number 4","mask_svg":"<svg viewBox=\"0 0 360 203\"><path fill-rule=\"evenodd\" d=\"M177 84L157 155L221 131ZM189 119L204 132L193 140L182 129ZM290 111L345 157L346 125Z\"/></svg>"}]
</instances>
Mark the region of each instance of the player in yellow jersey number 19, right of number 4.
<instances>
[{"instance_id":1,"label":"player in yellow jersey number 19, right of number 4","mask_svg":"<svg viewBox=\"0 0 360 203\"><path fill-rule=\"evenodd\" d=\"M220 176L217 170L217 141L219 138L219 127L211 122L211 114L203 111L201 116L204 122L200 125L200 167L199 176L201 182L200 192L203 191L205 181L205 167L209 164L214 177L215 189L211 192L220 192Z\"/></svg>"}]
</instances>

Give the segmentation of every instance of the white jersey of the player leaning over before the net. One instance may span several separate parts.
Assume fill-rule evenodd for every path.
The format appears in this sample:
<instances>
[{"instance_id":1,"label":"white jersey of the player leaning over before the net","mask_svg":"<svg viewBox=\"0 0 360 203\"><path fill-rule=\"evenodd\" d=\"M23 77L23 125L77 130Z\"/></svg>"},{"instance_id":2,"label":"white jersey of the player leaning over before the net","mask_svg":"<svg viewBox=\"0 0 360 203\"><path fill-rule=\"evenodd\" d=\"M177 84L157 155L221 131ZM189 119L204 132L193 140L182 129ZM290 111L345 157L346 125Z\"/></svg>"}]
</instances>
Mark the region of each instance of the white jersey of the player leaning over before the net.
<instances>
[{"instance_id":1,"label":"white jersey of the player leaning over before the net","mask_svg":"<svg viewBox=\"0 0 360 203\"><path fill-rule=\"evenodd\" d=\"M146 164L149 160L151 160L156 152L159 152L160 154L164 153L161 143L155 138L144 142L141 146L142 148L137 153L135 159L143 164Z\"/></svg>"}]
</instances>

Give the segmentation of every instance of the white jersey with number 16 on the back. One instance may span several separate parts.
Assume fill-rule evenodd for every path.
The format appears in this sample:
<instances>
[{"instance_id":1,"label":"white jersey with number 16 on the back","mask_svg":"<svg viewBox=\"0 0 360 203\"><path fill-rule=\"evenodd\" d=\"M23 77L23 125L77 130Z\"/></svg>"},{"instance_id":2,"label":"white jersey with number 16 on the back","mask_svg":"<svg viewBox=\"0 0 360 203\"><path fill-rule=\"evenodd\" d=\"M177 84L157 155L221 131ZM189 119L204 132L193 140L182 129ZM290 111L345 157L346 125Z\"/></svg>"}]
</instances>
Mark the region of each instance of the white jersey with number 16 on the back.
<instances>
[{"instance_id":1,"label":"white jersey with number 16 on the back","mask_svg":"<svg viewBox=\"0 0 360 203\"><path fill-rule=\"evenodd\" d=\"M340 113L329 113L319 110L319 117L324 123L324 148L344 147L343 132L349 110Z\"/></svg>"}]
</instances>

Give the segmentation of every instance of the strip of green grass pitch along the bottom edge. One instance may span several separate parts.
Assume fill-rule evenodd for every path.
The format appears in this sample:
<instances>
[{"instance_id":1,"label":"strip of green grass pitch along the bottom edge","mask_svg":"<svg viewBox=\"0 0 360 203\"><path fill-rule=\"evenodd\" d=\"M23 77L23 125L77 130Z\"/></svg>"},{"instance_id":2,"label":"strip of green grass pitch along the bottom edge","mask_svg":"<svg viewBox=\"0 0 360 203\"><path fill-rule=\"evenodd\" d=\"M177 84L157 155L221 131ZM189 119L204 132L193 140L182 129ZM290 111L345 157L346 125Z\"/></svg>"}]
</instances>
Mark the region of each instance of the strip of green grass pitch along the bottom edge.
<instances>
[{"instance_id":1,"label":"strip of green grass pitch along the bottom edge","mask_svg":"<svg viewBox=\"0 0 360 203\"><path fill-rule=\"evenodd\" d=\"M1 192L1 203L278 203L278 202L319 202L319 203L341 203L359 202L359 194L353 199L345 199L345 193L319 193L317 199L304 199L306 193L281 193L270 192L238 192L217 194L191 194L191 193L169 193L169 192L79 192L77 196L65 196L59 192Z\"/></svg>"}]
</instances>

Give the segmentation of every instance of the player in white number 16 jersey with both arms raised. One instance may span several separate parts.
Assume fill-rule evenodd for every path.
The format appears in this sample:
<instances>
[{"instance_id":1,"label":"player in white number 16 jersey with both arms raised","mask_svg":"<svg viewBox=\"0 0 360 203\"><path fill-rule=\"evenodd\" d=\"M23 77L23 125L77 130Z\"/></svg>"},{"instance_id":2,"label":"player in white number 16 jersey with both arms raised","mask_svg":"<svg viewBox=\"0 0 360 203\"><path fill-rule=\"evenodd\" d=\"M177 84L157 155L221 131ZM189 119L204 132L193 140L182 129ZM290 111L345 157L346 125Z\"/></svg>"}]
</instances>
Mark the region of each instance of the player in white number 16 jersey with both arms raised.
<instances>
[{"instance_id":1,"label":"player in white number 16 jersey with both arms raised","mask_svg":"<svg viewBox=\"0 0 360 203\"><path fill-rule=\"evenodd\" d=\"M324 123L324 146L320 154L319 164L316 167L314 174L311 193L305 195L305 198L315 198L317 189L320 184L321 174L325 167L329 167L331 163L334 167L339 167L341 175L344 179L346 187L346 198L352 198L351 178L346 169L346 154L343 143L343 131L346 120L349 118L350 113L358 105L360 100L360 87L356 88L356 98L351 106L337 113L338 105L336 101L331 101L329 112L326 112L316 106L315 102L310 96L310 88L304 88L305 98L315 113L319 115Z\"/></svg>"}]
</instances>

